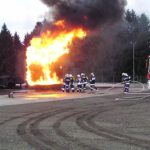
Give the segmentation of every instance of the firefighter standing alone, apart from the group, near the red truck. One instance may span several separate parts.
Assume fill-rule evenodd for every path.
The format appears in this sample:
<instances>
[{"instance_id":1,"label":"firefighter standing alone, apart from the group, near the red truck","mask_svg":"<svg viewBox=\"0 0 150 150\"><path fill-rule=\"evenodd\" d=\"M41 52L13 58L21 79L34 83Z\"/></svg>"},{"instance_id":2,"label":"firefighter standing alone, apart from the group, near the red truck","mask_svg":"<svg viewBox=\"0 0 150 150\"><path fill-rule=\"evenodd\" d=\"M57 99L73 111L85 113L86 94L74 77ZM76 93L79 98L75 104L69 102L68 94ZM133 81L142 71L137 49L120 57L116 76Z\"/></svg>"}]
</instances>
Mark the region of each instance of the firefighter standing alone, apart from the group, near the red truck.
<instances>
[{"instance_id":1,"label":"firefighter standing alone, apart from the group, near the red truck","mask_svg":"<svg viewBox=\"0 0 150 150\"><path fill-rule=\"evenodd\" d=\"M127 73L122 73L122 81L124 83L124 92L129 92L131 77Z\"/></svg>"}]
</instances>

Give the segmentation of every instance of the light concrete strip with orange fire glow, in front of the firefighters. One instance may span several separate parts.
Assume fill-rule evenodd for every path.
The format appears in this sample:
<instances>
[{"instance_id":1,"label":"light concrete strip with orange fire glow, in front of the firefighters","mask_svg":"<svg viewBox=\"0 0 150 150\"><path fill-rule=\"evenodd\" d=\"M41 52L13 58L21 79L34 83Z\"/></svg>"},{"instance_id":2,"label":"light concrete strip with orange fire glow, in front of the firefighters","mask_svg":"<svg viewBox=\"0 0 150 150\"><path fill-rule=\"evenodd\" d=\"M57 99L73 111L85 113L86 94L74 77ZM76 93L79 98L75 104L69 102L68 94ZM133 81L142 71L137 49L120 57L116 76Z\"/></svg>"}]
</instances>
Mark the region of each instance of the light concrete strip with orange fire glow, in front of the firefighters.
<instances>
[{"instance_id":1,"label":"light concrete strip with orange fire glow, in front of the firefighters","mask_svg":"<svg viewBox=\"0 0 150 150\"><path fill-rule=\"evenodd\" d=\"M63 93L58 91L34 91L34 90L22 90L15 91L14 97L9 98L8 95L0 96L0 106L7 105L18 105L18 104L26 104L26 103L36 103L36 102L48 102L48 101L60 101L67 99L81 99L87 97L95 97L95 96L104 96L110 94L120 93L120 91L113 92L103 92L103 91L94 91L91 93L87 91L86 93Z\"/></svg>"}]
</instances>

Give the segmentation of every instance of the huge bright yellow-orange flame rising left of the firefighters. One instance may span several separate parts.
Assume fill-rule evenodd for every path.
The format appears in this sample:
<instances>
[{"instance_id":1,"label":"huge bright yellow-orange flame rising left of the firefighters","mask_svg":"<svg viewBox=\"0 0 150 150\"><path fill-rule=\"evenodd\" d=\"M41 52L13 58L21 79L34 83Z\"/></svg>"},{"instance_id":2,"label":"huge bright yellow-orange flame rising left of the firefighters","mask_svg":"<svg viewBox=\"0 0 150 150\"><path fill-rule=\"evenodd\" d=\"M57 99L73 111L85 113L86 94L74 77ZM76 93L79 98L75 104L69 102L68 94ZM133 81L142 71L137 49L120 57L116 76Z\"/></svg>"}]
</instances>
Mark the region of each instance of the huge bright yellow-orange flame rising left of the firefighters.
<instances>
[{"instance_id":1,"label":"huge bright yellow-orange flame rising left of the firefighters","mask_svg":"<svg viewBox=\"0 0 150 150\"><path fill-rule=\"evenodd\" d=\"M65 21L54 24L57 30L47 31L40 37L34 37L26 52L26 80L30 86L59 84L61 80L51 66L69 53L69 46L75 38L84 38L82 28L67 29Z\"/></svg>"}]
</instances>

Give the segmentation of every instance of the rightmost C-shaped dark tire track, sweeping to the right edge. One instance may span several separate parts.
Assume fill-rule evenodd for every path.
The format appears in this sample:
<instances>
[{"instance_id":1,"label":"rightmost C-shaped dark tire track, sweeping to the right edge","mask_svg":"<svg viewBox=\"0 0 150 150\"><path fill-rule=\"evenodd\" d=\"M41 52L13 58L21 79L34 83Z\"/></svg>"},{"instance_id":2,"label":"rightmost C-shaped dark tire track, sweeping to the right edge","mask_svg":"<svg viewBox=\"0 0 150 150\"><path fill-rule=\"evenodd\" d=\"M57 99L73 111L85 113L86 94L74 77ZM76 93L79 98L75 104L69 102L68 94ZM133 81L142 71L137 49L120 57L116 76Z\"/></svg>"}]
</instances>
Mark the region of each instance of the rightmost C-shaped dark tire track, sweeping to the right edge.
<instances>
[{"instance_id":1,"label":"rightmost C-shaped dark tire track, sweeping to the right edge","mask_svg":"<svg viewBox=\"0 0 150 150\"><path fill-rule=\"evenodd\" d=\"M147 99L147 97L143 97L143 99ZM145 102L145 101L142 101L142 102ZM133 106L133 105L137 105L137 104L141 104L142 103L141 100L137 100L136 102L130 102L130 103L121 103L121 104L117 104L121 107L130 107L130 106ZM110 139L110 140L115 140L115 141L120 141L122 143L125 143L125 144L129 144L129 145L135 145L137 147L142 147L142 148L145 148L145 149L149 149L150 147L150 141L149 140L143 140L143 139L138 139L138 138L135 138L135 137L130 137L130 136L127 136L127 135L124 135L124 134L120 134L118 132L115 132L115 131L112 131L110 129L106 129L106 128L102 128L102 127L99 127L97 124L95 124L93 122L93 119L99 115L100 113L103 113L103 112L106 112L106 111L109 111L109 110L112 110L112 109L115 109L116 106L104 106L103 110L98 110L96 111L95 113L91 112L91 113L88 113L88 114L85 114L84 116L80 116L77 118L76 122L78 124L79 127L81 127L83 130L86 130L90 133L94 133L98 136L101 136L101 137L105 137L107 139ZM109 107L111 107L109 109Z\"/></svg>"}]
</instances>

